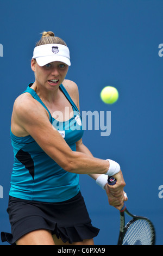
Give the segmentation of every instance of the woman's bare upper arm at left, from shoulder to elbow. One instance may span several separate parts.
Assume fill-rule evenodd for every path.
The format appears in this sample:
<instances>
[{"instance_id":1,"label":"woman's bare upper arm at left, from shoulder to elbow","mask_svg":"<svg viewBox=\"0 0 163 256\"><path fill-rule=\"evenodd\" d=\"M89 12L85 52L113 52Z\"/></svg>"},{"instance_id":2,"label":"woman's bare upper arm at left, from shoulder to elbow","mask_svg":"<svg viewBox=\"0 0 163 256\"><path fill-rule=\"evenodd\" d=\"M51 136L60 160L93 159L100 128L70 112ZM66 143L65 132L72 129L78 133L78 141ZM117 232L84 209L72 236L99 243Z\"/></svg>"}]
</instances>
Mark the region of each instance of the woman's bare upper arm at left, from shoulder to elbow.
<instances>
[{"instance_id":1,"label":"woman's bare upper arm at left, from shoulder to elbow","mask_svg":"<svg viewBox=\"0 0 163 256\"><path fill-rule=\"evenodd\" d=\"M14 113L17 124L34 138L47 155L68 170L72 150L52 126L45 108L34 99L24 97L23 101L16 102Z\"/></svg>"}]
</instances>

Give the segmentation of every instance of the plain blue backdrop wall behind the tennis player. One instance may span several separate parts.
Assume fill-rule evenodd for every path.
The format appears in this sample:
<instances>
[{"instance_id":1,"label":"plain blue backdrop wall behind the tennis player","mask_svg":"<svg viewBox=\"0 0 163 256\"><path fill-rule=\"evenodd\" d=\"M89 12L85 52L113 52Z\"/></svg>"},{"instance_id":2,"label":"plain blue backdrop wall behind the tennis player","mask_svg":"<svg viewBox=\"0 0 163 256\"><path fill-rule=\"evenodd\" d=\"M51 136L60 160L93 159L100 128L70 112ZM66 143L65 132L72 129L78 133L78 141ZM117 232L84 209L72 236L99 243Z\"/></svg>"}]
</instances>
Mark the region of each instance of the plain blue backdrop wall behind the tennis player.
<instances>
[{"instance_id":1,"label":"plain blue backdrop wall behind the tennis player","mask_svg":"<svg viewBox=\"0 0 163 256\"><path fill-rule=\"evenodd\" d=\"M83 142L96 157L121 164L128 209L153 221L156 244L163 245L162 203L162 38L160 0L0 0L1 173L0 231L10 232L6 212L13 154L10 118L15 98L34 81L30 69L35 42L43 31L64 39L71 52L67 74L78 84L80 111L111 111L111 135L85 131ZM120 97L105 105L104 86ZM80 175L93 224L100 228L96 245L116 245L119 212L108 204L95 181ZM7 245L7 243L1 243Z\"/></svg>"}]
</instances>

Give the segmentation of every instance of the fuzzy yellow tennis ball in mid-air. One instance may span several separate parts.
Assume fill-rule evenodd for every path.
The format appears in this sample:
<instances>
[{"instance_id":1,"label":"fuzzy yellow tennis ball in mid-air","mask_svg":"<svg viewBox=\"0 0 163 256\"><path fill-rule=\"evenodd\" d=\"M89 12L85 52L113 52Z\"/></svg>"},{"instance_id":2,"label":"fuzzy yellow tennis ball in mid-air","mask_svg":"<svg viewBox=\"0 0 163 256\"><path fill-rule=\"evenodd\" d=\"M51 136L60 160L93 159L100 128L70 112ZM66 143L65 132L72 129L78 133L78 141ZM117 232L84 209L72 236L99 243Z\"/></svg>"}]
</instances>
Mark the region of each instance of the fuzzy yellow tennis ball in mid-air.
<instances>
[{"instance_id":1,"label":"fuzzy yellow tennis ball in mid-air","mask_svg":"<svg viewBox=\"0 0 163 256\"><path fill-rule=\"evenodd\" d=\"M115 87L106 86L101 91L101 99L107 104L112 104L118 100L119 94Z\"/></svg>"}]
</instances>

